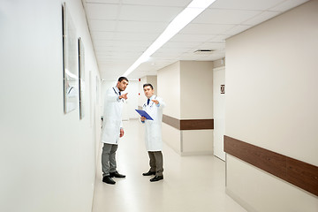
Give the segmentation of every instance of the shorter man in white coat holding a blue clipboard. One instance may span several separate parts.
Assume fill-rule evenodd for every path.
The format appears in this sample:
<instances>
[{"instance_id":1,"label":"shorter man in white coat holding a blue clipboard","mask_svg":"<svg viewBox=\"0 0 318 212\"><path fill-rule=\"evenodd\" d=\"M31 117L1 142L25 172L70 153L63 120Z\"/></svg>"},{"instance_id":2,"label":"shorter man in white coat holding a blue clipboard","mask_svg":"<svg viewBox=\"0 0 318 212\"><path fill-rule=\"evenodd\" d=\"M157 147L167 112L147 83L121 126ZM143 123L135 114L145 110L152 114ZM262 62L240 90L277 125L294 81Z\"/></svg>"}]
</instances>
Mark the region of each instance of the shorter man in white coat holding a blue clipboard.
<instances>
[{"instance_id":1,"label":"shorter man in white coat holding a blue clipboard","mask_svg":"<svg viewBox=\"0 0 318 212\"><path fill-rule=\"evenodd\" d=\"M140 117L141 122L146 125L145 142L150 165L150 170L142 175L155 175L154 178L150 179L150 182L155 182L163 179L162 121L165 103L162 98L154 95L154 87L151 84L143 85L143 90L148 100L144 103L142 108L154 120L148 120L146 117Z\"/></svg>"}]
</instances>

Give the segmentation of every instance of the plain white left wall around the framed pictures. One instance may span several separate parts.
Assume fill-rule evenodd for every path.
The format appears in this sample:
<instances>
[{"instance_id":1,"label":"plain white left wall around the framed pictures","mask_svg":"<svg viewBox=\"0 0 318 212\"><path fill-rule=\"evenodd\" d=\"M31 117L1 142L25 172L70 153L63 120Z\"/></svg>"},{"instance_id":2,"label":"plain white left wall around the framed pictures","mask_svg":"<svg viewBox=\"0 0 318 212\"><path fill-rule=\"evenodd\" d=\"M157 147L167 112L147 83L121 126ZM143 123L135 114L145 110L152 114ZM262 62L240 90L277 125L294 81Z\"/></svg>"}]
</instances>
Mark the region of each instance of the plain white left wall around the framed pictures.
<instances>
[{"instance_id":1,"label":"plain white left wall around the framed pictures","mask_svg":"<svg viewBox=\"0 0 318 212\"><path fill-rule=\"evenodd\" d=\"M86 51L82 120L64 114L62 1L0 4L0 211L91 211L98 67L80 0L65 2Z\"/></svg>"}]
</instances>

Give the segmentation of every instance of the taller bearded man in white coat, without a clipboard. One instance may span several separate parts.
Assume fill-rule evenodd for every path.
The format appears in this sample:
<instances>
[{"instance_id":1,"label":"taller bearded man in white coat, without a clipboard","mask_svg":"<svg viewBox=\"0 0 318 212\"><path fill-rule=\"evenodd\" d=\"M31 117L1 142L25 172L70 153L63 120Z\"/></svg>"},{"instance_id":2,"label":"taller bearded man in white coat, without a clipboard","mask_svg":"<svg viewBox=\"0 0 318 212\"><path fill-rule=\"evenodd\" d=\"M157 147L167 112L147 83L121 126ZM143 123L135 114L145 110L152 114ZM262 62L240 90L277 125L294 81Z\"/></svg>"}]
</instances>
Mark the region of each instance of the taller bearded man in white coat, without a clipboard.
<instances>
[{"instance_id":1,"label":"taller bearded man in white coat, without a clipboard","mask_svg":"<svg viewBox=\"0 0 318 212\"><path fill-rule=\"evenodd\" d=\"M117 172L116 151L118 140L124 136L122 124L123 102L127 99L127 93L121 94L128 86L128 79L120 77L116 87L110 87L106 91L103 125L102 125L102 182L114 185L112 178L125 178L125 175Z\"/></svg>"}]
</instances>

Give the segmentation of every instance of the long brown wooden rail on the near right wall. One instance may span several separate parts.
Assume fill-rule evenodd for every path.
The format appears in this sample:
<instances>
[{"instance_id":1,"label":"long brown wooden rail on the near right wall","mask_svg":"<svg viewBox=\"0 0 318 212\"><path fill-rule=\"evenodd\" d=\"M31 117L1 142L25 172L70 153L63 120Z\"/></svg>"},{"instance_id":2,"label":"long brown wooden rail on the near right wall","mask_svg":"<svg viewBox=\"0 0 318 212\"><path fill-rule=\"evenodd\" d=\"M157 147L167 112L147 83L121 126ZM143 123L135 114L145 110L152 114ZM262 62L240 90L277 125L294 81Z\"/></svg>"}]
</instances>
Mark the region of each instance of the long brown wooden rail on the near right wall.
<instances>
[{"instance_id":1,"label":"long brown wooden rail on the near right wall","mask_svg":"<svg viewBox=\"0 0 318 212\"><path fill-rule=\"evenodd\" d=\"M318 167L224 135L224 152L318 195Z\"/></svg>"}]
</instances>

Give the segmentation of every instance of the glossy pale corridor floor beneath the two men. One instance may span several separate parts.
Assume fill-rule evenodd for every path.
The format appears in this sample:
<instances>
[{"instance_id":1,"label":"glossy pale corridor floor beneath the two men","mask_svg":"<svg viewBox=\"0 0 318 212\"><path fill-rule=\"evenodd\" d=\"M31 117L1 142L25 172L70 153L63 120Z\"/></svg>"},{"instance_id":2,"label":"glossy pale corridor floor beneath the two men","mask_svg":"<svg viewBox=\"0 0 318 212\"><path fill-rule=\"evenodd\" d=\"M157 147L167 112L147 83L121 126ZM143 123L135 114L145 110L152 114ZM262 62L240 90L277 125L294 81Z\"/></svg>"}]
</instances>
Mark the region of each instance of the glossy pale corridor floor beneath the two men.
<instances>
[{"instance_id":1,"label":"glossy pale corridor floor beneath the two men","mask_svg":"<svg viewBox=\"0 0 318 212\"><path fill-rule=\"evenodd\" d=\"M117 170L126 178L115 178L115 186L104 184L98 164L93 212L246 211L225 194L225 164L212 155L181 157L164 145L164 179L149 182L152 177L141 175L149 169L142 125L130 120L124 127Z\"/></svg>"}]
</instances>

